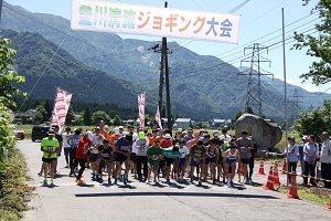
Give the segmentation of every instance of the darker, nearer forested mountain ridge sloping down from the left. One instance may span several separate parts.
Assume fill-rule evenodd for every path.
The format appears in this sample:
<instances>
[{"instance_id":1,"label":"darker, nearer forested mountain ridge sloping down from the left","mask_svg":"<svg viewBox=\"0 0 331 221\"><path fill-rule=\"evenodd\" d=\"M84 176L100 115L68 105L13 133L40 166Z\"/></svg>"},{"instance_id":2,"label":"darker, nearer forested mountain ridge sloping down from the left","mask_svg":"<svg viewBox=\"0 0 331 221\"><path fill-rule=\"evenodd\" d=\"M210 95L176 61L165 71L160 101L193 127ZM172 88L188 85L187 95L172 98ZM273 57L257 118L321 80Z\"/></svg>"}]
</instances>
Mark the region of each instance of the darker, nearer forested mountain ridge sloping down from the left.
<instances>
[{"instance_id":1,"label":"darker, nearer forested mountain ridge sloping down from the left","mask_svg":"<svg viewBox=\"0 0 331 221\"><path fill-rule=\"evenodd\" d=\"M38 33L18 33L2 30L1 35L13 40L18 72L25 76L19 88L36 98L54 98L55 88L62 87L74 94L73 101L111 103L127 106L135 103L130 83L102 71L90 69ZM54 52L57 51L56 55Z\"/></svg>"}]
</instances>

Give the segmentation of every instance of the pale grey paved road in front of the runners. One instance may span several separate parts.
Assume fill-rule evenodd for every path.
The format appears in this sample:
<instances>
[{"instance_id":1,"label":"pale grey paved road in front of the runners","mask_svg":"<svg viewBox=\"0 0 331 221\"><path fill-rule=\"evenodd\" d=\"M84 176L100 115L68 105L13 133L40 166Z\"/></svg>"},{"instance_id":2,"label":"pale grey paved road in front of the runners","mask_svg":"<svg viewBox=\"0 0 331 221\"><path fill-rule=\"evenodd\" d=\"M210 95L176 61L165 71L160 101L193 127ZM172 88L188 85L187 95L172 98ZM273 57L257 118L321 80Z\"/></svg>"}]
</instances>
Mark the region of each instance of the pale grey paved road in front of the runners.
<instances>
[{"instance_id":1,"label":"pale grey paved road in front of the runners","mask_svg":"<svg viewBox=\"0 0 331 221\"><path fill-rule=\"evenodd\" d=\"M129 186L103 186L89 181L86 187L75 186L65 169L64 158L58 160L61 178L55 187L41 187L36 173L41 166L40 143L19 140L26 156L31 186L36 187L31 201L34 210L24 220L331 220L331 212L302 200L286 199L282 193L260 187L217 187L211 183L147 186L132 181ZM284 178L282 178L284 179ZM255 176L265 182L266 176Z\"/></svg>"}]
</instances>

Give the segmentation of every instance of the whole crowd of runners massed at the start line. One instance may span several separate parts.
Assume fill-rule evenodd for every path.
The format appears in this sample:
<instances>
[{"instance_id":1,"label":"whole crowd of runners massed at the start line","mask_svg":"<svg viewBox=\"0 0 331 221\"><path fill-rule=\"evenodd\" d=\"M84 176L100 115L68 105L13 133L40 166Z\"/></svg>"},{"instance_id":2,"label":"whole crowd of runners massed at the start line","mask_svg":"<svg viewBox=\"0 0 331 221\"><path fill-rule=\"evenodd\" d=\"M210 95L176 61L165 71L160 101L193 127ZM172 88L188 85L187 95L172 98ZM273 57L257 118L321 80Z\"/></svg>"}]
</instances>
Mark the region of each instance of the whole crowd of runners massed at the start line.
<instances>
[{"instance_id":1,"label":"whole crowd of runners massed at the start line","mask_svg":"<svg viewBox=\"0 0 331 221\"><path fill-rule=\"evenodd\" d=\"M252 183L254 156L257 147L247 131L236 138L227 129L183 130L173 136L162 129L132 126L108 126L100 120L99 126L87 131L70 127L60 134L58 126L52 126L49 137L41 143L43 185L54 185L57 158L64 152L70 177L83 185L85 168L90 169L92 180L118 185L129 182L129 173L140 182L211 182L234 187L235 175L238 182ZM105 176L106 175L106 176ZM88 176L85 176L88 177Z\"/></svg>"}]
</instances>

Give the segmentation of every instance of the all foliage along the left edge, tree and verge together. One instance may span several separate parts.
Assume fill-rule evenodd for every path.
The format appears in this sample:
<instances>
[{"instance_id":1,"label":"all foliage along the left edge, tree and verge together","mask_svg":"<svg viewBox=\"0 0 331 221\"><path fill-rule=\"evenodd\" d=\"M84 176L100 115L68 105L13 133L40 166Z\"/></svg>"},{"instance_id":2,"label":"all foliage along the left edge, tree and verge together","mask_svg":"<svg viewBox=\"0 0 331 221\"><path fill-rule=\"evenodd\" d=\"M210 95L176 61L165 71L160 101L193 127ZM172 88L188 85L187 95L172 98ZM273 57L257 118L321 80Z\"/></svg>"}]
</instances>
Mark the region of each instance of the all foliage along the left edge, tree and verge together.
<instances>
[{"instance_id":1,"label":"all foliage along the left edge, tree and verge together","mask_svg":"<svg viewBox=\"0 0 331 221\"><path fill-rule=\"evenodd\" d=\"M11 95L18 93L13 83L23 82L14 70L9 48L10 40L0 40L0 220L19 220L26 210L30 189L25 183L25 160L15 148L15 138L10 127L8 105L14 105Z\"/></svg>"}]
</instances>

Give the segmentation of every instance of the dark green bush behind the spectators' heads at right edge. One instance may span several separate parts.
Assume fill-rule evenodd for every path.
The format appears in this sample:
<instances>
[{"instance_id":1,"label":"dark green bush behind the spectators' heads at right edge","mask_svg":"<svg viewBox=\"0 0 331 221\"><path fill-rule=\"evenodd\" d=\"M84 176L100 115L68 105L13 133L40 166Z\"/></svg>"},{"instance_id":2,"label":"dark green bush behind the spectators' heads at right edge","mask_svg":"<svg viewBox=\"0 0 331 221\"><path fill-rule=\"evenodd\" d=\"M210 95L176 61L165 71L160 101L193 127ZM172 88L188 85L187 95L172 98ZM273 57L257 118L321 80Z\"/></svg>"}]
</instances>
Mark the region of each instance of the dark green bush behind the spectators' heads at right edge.
<instances>
[{"instance_id":1,"label":"dark green bush behind the spectators' heads at right edge","mask_svg":"<svg viewBox=\"0 0 331 221\"><path fill-rule=\"evenodd\" d=\"M302 135L314 135L320 141L322 131L331 131L331 101L324 101L322 107L314 109L312 113L306 113L295 122L293 128Z\"/></svg>"}]
</instances>

